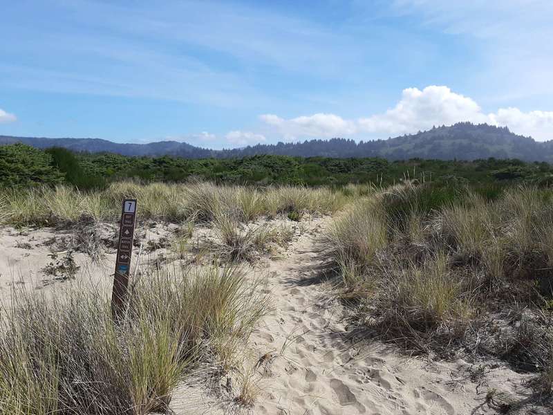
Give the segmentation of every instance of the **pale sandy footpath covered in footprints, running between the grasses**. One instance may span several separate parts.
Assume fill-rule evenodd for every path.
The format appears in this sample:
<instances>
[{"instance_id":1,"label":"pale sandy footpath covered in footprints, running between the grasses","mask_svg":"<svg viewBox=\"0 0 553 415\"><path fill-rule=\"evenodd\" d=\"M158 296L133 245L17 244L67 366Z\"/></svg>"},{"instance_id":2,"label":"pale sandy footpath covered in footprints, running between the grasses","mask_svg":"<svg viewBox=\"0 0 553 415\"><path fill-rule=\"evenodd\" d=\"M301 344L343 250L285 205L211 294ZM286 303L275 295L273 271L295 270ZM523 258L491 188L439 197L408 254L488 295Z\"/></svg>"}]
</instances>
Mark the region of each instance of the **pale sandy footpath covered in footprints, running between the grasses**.
<instances>
[{"instance_id":1,"label":"pale sandy footpath covered in footprints, running between the grasses","mask_svg":"<svg viewBox=\"0 0 553 415\"><path fill-rule=\"evenodd\" d=\"M270 263L274 312L251 340L259 357L271 351L276 357L259 368L264 393L254 414L491 414L500 405L486 403L494 388L518 400L524 377L505 367L484 369L478 378L463 360L432 363L380 342L353 341L348 312L321 281L326 258L316 241L328 223L312 221L288 257Z\"/></svg>"}]
</instances>

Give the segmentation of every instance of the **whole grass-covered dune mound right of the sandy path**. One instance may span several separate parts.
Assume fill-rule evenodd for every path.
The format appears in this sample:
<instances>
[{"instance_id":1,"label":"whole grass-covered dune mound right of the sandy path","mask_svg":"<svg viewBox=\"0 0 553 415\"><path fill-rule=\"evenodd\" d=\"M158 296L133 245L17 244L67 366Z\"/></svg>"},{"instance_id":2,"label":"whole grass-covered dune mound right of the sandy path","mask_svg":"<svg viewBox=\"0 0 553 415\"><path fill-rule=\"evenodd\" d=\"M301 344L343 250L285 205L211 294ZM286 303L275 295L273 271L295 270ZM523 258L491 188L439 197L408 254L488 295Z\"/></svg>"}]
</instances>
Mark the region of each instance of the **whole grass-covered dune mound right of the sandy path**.
<instances>
[{"instance_id":1,"label":"whole grass-covered dune mound right of the sandy path","mask_svg":"<svg viewBox=\"0 0 553 415\"><path fill-rule=\"evenodd\" d=\"M409 183L373 194L335 219L326 246L361 320L388 340L547 374L553 324L538 315L553 297L553 192L479 194Z\"/></svg>"}]
</instances>

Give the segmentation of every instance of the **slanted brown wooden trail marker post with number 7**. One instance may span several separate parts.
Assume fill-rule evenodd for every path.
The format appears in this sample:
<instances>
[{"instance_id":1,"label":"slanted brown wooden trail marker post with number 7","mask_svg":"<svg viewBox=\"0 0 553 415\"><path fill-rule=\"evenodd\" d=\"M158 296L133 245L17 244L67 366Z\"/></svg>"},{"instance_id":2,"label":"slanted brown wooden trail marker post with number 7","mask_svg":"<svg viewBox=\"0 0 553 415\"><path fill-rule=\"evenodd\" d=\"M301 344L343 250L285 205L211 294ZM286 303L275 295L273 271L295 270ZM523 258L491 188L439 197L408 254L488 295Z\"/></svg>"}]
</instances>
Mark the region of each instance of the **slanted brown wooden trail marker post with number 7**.
<instances>
[{"instance_id":1,"label":"slanted brown wooden trail marker post with number 7","mask_svg":"<svg viewBox=\"0 0 553 415\"><path fill-rule=\"evenodd\" d=\"M124 199L121 212L121 226L119 228L117 257L115 258L113 292L111 293L111 314L116 322L120 319L126 306L126 291L129 286L135 219L136 199Z\"/></svg>"}]
</instances>

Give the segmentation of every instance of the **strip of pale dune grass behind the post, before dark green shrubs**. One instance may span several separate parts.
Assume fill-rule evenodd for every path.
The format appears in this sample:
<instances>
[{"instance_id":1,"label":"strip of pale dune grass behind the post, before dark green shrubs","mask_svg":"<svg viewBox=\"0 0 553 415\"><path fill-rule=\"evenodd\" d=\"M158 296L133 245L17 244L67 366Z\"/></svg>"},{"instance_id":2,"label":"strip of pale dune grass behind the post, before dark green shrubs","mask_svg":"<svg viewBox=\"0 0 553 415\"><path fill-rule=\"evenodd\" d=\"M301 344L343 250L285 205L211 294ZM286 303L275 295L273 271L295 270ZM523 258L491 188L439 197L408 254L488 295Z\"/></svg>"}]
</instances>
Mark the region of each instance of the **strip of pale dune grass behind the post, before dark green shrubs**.
<instances>
[{"instance_id":1,"label":"strip of pale dune grass behind the post, before dark green shrubs","mask_svg":"<svg viewBox=\"0 0 553 415\"><path fill-rule=\"evenodd\" d=\"M82 216L95 221L115 221L122 199L138 199L141 219L180 223L210 222L225 215L238 222L260 216L304 212L335 212L345 196L328 189L215 185L209 182L181 184L133 181L112 183L105 190L80 192L73 187L33 187L28 190L0 190L0 219L20 225L74 223Z\"/></svg>"}]
</instances>

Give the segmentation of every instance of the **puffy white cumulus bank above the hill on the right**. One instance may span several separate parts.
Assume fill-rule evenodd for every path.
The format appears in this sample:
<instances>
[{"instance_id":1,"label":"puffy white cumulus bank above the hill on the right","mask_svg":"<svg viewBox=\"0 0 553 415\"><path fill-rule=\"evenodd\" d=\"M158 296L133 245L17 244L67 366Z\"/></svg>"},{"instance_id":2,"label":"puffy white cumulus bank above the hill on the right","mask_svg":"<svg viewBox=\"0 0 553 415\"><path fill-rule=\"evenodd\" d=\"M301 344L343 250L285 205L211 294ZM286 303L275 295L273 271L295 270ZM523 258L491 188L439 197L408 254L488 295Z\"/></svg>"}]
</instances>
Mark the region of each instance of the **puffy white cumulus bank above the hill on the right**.
<instances>
[{"instance_id":1,"label":"puffy white cumulus bank above the hill on the right","mask_svg":"<svg viewBox=\"0 0 553 415\"><path fill-rule=\"evenodd\" d=\"M516 108L501 108L495 113L484 113L476 101L447 86L407 88L402 91L395 107L357 120L346 120L330 113L284 119L264 114L261 120L283 138L350 137L415 133L433 125L450 125L461 121L507 126L515 133L532 136L536 140L553 139L553 111L523 112Z\"/></svg>"}]
</instances>

